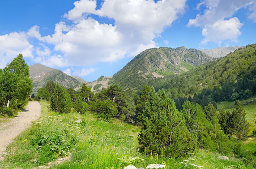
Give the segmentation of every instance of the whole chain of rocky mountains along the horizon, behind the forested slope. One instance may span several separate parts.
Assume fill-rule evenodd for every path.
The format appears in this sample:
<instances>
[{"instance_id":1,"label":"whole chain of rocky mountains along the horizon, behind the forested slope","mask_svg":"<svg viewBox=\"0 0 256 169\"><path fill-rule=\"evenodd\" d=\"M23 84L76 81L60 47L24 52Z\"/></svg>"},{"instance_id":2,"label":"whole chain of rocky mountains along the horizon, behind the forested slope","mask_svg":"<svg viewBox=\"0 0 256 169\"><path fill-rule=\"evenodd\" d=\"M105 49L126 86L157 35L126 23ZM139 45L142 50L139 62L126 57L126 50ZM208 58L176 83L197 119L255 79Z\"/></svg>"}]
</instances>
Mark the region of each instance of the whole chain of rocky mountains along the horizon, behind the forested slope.
<instances>
[{"instance_id":1,"label":"whole chain of rocky mountains along the horizon, behind the forested slope","mask_svg":"<svg viewBox=\"0 0 256 169\"><path fill-rule=\"evenodd\" d=\"M41 64L29 66L30 78L33 80L33 93L37 94L39 88L44 87L48 81L59 83L65 88L79 90L86 83L93 92L99 92L111 84L118 84L122 88L140 90L138 86L144 81L163 78L173 74L187 72L196 66L215 60L214 57L223 57L223 54L233 52L239 48L227 47L213 50L178 48L151 48L135 56L125 67L113 75L113 77L101 76L93 82L86 82L80 77L71 77L61 70L48 68ZM213 57L211 57L211 56Z\"/></svg>"}]
</instances>

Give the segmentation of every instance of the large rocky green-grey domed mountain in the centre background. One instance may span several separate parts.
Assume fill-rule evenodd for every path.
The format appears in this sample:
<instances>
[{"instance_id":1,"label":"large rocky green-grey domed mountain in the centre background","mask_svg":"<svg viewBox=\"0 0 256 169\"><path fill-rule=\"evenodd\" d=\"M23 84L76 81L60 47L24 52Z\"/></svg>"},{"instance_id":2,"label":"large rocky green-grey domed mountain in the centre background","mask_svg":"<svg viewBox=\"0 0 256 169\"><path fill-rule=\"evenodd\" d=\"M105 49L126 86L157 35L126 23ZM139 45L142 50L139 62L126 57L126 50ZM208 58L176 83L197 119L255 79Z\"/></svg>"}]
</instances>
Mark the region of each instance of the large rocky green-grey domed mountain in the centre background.
<instances>
[{"instance_id":1,"label":"large rocky green-grey domed mountain in the centre background","mask_svg":"<svg viewBox=\"0 0 256 169\"><path fill-rule=\"evenodd\" d=\"M110 78L109 84L138 90L146 81L184 73L212 60L212 57L194 48L151 48L135 56Z\"/></svg>"}]
</instances>

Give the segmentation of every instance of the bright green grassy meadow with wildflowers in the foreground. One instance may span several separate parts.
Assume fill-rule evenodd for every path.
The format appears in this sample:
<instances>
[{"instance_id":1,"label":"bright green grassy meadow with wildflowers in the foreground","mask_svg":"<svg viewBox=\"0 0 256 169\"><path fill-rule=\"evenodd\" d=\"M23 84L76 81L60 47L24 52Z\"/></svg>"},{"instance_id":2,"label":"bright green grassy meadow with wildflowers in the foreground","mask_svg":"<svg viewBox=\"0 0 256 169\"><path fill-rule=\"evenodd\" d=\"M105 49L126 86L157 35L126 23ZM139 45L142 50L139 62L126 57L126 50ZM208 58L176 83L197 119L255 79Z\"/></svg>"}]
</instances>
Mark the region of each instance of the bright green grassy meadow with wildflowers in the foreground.
<instances>
[{"instance_id":1,"label":"bright green grassy meadow with wildflowers in the foreground","mask_svg":"<svg viewBox=\"0 0 256 169\"><path fill-rule=\"evenodd\" d=\"M48 166L57 158L70 155L70 160L51 168L123 168L132 164L146 168L148 164L165 164L167 168L253 168L229 154L230 161L217 159L220 154L198 149L190 157L173 159L141 154L136 137L139 127L118 119L100 121L92 114L58 114L49 112L41 101L42 115L8 146L8 154L0 168L33 168ZM82 119L81 123L75 122ZM253 146L253 144L246 144Z\"/></svg>"}]
</instances>

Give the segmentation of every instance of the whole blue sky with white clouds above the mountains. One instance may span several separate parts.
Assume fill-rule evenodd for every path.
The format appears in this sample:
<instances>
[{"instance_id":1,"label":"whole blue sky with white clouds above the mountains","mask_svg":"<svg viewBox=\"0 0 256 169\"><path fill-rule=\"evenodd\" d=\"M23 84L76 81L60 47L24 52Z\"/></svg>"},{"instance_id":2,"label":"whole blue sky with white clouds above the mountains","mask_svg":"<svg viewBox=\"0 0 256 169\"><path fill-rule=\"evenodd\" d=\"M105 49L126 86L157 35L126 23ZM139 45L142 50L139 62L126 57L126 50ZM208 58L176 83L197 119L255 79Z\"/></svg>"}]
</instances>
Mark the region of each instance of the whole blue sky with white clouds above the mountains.
<instances>
[{"instance_id":1,"label":"whole blue sky with white clouds above the mountains","mask_svg":"<svg viewBox=\"0 0 256 169\"><path fill-rule=\"evenodd\" d=\"M256 0L0 1L0 69L18 54L95 81L153 47L256 41Z\"/></svg>"}]
</instances>

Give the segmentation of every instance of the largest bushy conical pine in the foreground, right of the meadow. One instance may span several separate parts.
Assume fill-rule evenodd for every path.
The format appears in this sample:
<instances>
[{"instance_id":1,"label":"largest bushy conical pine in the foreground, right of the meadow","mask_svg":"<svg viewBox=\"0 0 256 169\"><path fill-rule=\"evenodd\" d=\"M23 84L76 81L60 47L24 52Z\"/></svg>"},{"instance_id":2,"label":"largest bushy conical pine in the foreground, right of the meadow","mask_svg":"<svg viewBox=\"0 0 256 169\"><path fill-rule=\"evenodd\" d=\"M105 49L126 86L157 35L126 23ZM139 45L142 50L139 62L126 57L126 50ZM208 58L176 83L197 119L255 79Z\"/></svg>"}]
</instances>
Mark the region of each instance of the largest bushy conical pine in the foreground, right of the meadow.
<instances>
[{"instance_id":1,"label":"largest bushy conical pine in the foreground, right of the meadow","mask_svg":"<svg viewBox=\"0 0 256 169\"><path fill-rule=\"evenodd\" d=\"M176 158L195 149L195 141L185 126L182 114L163 91L156 93L151 88L142 116L138 136L140 152Z\"/></svg>"}]
</instances>

